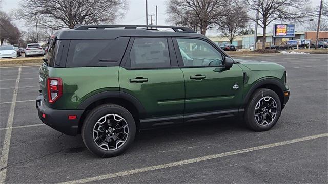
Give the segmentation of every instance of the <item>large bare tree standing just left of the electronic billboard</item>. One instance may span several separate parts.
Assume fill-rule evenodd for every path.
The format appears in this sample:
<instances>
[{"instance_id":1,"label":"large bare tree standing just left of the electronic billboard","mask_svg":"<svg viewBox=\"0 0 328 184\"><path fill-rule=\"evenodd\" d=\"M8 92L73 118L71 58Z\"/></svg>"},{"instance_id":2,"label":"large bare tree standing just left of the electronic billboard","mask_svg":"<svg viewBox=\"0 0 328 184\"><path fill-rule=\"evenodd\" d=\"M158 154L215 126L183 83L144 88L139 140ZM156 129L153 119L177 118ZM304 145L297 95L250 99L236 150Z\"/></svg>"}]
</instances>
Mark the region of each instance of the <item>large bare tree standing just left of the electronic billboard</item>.
<instances>
[{"instance_id":1,"label":"large bare tree standing just left of the electronic billboard","mask_svg":"<svg viewBox=\"0 0 328 184\"><path fill-rule=\"evenodd\" d=\"M253 16L250 19L263 28L262 48L265 48L267 26L275 20L297 21L308 14L308 0L245 0ZM259 19L255 18L256 12Z\"/></svg>"}]
</instances>

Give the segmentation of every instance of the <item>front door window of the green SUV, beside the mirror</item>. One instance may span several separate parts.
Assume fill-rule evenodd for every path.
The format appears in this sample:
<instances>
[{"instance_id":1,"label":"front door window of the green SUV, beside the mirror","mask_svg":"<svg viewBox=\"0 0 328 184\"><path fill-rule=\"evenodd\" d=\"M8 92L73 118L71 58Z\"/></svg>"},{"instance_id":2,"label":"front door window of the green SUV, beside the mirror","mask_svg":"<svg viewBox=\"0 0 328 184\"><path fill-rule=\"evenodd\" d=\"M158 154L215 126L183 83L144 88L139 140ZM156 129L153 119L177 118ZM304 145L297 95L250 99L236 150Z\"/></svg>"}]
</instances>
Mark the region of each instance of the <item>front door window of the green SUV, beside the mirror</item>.
<instances>
[{"instance_id":1,"label":"front door window of the green SUV, beside the mirror","mask_svg":"<svg viewBox=\"0 0 328 184\"><path fill-rule=\"evenodd\" d=\"M176 40L179 45L184 66L223 65L221 53L208 42L189 38L177 38Z\"/></svg>"}]
</instances>

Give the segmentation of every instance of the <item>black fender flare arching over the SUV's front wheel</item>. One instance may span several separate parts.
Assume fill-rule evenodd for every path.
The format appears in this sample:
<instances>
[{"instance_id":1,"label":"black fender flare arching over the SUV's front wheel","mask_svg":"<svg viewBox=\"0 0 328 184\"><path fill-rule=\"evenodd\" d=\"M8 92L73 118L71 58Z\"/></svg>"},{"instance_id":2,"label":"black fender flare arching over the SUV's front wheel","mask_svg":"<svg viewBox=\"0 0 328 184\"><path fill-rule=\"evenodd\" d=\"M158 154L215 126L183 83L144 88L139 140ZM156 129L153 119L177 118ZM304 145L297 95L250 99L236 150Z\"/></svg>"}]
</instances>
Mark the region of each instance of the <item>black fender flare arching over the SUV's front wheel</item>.
<instances>
[{"instance_id":1,"label":"black fender flare arching over the SUV's front wheel","mask_svg":"<svg viewBox=\"0 0 328 184\"><path fill-rule=\"evenodd\" d=\"M257 82L255 85L251 87L251 89L248 91L248 93L245 95L245 98L243 100L243 105L247 105L247 103L250 101L250 98L254 91L259 88L266 88L266 89L271 89L273 90L279 97L280 102L281 102L281 109L284 108L283 101L284 101L284 96L283 96L283 91L284 91L284 85L279 82L276 79L264 79L259 82Z\"/></svg>"}]
</instances>

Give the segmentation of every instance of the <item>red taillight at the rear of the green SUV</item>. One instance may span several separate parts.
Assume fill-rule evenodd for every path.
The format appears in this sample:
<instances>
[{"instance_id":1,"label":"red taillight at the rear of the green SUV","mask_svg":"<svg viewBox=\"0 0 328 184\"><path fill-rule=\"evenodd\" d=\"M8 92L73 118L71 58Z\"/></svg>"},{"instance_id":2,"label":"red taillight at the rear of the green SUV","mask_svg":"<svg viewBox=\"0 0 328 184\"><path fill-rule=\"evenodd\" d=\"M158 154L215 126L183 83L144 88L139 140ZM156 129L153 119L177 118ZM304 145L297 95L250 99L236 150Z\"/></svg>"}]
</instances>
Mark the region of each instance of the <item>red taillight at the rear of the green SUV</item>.
<instances>
[{"instance_id":1,"label":"red taillight at the rear of the green SUV","mask_svg":"<svg viewBox=\"0 0 328 184\"><path fill-rule=\"evenodd\" d=\"M58 100L63 93L63 84L61 78L50 78L48 77L48 99L49 103L54 103Z\"/></svg>"}]
</instances>

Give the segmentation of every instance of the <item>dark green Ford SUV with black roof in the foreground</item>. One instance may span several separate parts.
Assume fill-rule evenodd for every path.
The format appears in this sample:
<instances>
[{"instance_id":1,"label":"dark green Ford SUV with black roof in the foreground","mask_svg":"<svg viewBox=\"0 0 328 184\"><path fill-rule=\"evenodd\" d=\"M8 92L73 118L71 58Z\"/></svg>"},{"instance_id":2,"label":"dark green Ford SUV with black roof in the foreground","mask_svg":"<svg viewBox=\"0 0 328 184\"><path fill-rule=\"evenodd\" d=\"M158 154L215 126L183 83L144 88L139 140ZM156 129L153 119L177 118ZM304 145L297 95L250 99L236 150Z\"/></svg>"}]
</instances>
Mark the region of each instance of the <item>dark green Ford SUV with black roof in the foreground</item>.
<instances>
[{"instance_id":1,"label":"dark green Ford SUV with black roof in the foreground","mask_svg":"<svg viewBox=\"0 0 328 184\"><path fill-rule=\"evenodd\" d=\"M158 125L242 115L269 130L289 99L283 66L233 60L185 27L82 25L49 40L39 118L101 157Z\"/></svg>"}]
</instances>

